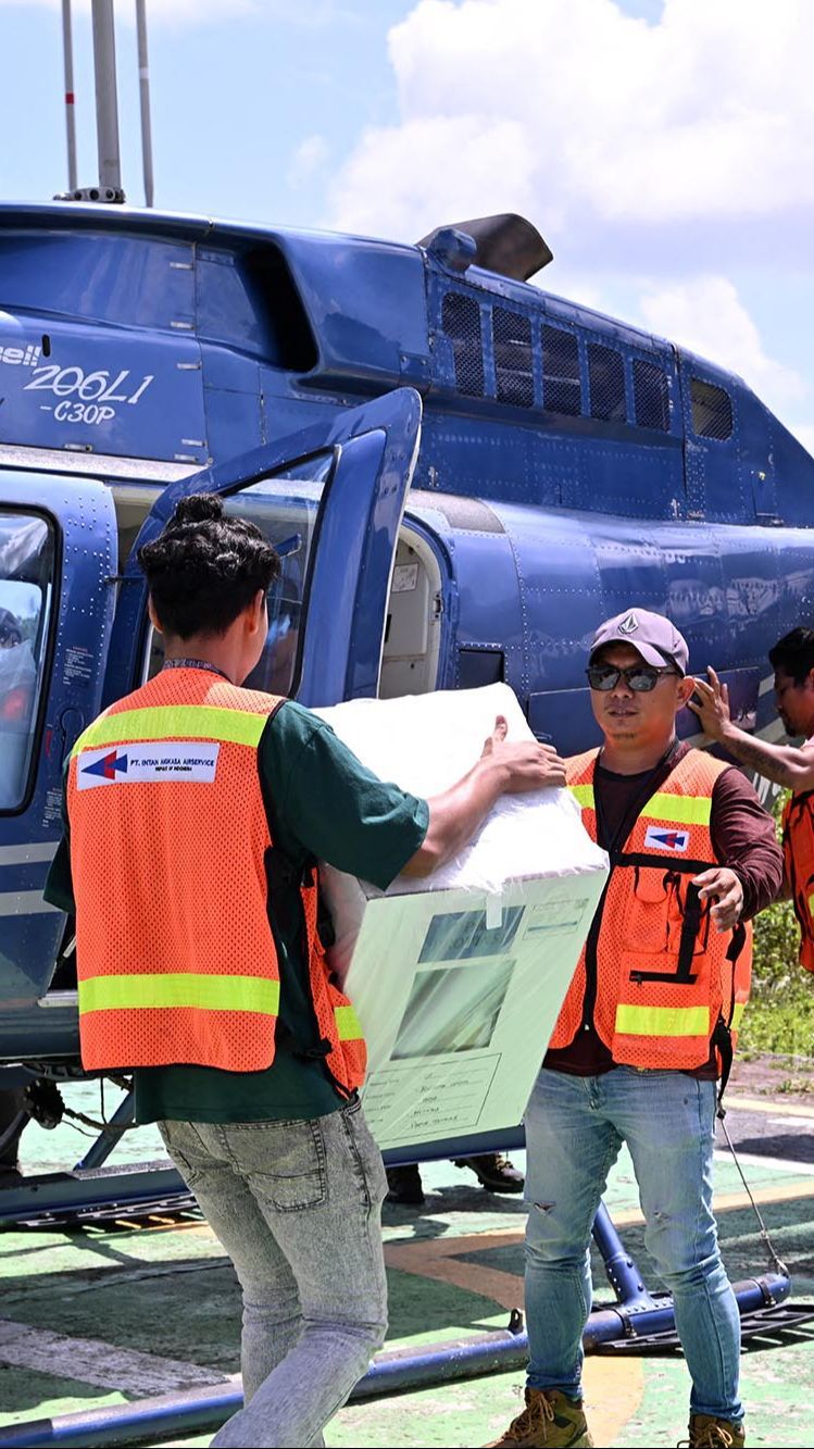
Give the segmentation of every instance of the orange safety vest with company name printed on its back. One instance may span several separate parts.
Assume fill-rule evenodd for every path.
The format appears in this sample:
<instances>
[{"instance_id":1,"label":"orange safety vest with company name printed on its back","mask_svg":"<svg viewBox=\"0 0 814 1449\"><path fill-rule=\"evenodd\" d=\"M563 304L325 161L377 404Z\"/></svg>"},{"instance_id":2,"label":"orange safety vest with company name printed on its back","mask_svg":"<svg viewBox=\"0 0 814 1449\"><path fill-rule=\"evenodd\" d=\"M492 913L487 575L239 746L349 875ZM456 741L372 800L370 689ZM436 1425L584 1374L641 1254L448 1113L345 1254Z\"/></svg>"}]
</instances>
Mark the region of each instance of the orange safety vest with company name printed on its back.
<instances>
[{"instance_id":1,"label":"orange safety vest with company name printed on its back","mask_svg":"<svg viewBox=\"0 0 814 1449\"><path fill-rule=\"evenodd\" d=\"M258 745L281 703L204 669L165 669L77 740L68 819L84 1066L255 1072L274 1061L280 968ZM324 961L314 871L300 894L311 1052L352 1093L365 1043Z\"/></svg>"}]
</instances>

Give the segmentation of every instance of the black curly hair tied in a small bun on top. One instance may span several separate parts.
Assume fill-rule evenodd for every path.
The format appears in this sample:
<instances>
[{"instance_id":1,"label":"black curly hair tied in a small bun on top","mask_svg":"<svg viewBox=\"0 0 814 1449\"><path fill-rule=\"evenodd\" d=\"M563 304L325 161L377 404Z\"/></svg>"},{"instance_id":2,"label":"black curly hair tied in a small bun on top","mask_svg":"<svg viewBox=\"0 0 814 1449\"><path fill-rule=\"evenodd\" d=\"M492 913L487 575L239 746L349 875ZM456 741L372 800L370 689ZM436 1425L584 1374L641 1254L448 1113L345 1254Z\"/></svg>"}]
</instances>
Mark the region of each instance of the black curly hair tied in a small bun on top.
<instances>
[{"instance_id":1,"label":"black curly hair tied in a small bun on top","mask_svg":"<svg viewBox=\"0 0 814 1449\"><path fill-rule=\"evenodd\" d=\"M181 498L164 532L138 552L165 633L223 635L280 574L280 558L255 523L225 514L222 498Z\"/></svg>"}]
</instances>

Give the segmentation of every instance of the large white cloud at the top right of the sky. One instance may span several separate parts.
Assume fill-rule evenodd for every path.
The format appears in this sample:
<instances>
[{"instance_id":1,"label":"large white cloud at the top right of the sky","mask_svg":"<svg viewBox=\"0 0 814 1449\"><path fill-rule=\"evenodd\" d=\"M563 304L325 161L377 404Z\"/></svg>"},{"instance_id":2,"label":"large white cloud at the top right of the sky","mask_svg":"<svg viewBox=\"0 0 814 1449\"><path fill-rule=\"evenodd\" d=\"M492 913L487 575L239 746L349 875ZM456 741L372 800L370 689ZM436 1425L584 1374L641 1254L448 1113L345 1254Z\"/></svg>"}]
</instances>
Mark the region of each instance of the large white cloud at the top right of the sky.
<instances>
[{"instance_id":1,"label":"large white cloud at the top right of the sky","mask_svg":"<svg viewBox=\"0 0 814 1449\"><path fill-rule=\"evenodd\" d=\"M811 0L420 0L390 32L401 122L332 193L351 230L526 207L555 243L814 207Z\"/></svg>"}]
</instances>

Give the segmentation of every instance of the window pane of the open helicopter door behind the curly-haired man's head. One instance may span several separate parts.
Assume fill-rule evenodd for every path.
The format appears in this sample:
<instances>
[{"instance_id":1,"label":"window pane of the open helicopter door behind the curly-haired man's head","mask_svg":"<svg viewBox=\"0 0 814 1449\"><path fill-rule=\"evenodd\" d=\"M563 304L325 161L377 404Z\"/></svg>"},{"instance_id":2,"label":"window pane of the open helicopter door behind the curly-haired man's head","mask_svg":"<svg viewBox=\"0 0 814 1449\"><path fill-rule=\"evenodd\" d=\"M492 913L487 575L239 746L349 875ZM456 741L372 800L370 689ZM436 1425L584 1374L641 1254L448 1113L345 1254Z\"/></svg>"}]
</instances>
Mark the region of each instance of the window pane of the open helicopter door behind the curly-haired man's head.
<instances>
[{"instance_id":1,"label":"window pane of the open helicopter door behind the curly-haired man's head","mask_svg":"<svg viewBox=\"0 0 814 1449\"><path fill-rule=\"evenodd\" d=\"M256 668L245 681L248 690L268 694L293 694L295 690L309 564L332 465L333 454L320 454L288 468L285 474L259 478L223 500L227 514L256 523L280 554L280 578L268 593L268 638ZM148 674L156 674L162 664L161 635L151 630Z\"/></svg>"}]
</instances>

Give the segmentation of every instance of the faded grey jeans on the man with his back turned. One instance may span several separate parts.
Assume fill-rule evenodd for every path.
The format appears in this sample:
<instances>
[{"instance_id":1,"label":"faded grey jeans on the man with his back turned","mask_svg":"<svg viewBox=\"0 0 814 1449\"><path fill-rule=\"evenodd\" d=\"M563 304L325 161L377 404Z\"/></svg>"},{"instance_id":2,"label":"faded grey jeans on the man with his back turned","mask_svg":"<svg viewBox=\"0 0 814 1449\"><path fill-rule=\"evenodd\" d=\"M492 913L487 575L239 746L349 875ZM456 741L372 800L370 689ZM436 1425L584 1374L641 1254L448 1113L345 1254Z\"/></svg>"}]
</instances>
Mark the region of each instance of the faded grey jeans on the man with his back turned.
<instances>
[{"instance_id":1,"label":"faded grey jeans on the man with his back turned","mask_svg":"<svg viewBox=\"0 0 814 1449\"><path fill-rule=\"evenodd\" d=\"M211 1443L322 1445L387 1330L387 1181L358 1101L309 1122L159 1122L243 1290L245 1407Z\"/></svg>"}]
</instances>

